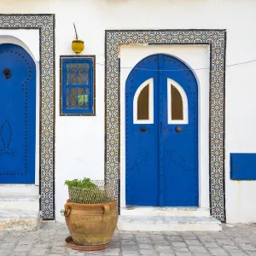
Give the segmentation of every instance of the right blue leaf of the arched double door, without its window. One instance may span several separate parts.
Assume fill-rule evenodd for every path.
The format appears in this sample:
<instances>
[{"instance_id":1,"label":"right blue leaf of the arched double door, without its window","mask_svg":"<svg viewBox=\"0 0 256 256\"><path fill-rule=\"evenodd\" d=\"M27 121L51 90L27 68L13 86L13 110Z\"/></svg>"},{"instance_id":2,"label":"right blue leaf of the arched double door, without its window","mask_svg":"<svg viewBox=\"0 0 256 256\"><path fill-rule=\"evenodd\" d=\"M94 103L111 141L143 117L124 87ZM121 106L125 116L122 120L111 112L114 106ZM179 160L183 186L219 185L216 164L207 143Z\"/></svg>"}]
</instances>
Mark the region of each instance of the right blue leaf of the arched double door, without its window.
<instances>
[{"instance_id":1,"label":"right blue leaf of the arched double door, without its window","mask_svg":"<svg viewBox=\"0 0 256 256\"><path fill-rule=\"evenodd\" d=\"M160 137L163 142L163 206L198 206L198 89L194 73L182 61L170 55L163 56L163 115ZM183 87L189 105L189 123L171 124L167 121L167 79ZM182 131L177 132L176 127Z\"/></svg>"}]
</instances>

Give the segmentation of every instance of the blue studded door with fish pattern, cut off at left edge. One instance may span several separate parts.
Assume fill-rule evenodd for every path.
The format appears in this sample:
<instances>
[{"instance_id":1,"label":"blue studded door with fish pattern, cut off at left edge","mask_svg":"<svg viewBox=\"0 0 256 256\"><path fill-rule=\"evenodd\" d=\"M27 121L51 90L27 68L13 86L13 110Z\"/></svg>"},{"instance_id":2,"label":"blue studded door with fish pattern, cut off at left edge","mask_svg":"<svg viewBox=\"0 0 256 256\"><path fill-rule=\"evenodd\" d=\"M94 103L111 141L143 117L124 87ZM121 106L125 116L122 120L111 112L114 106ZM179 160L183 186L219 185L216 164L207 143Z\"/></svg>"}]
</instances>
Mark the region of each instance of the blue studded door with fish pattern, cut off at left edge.
<instances>
[{"instance_id":1,"label":"blue studded door with fish pattern, cut off at left edge","mask_svg":"<svg viewBox=\"0 0 256 256\"><path fill-rule=\"evenodd\" d=\"M0 44L0 112L0 183L34 183L36 66L15 44Z\"/></svg>"}]
</instances>

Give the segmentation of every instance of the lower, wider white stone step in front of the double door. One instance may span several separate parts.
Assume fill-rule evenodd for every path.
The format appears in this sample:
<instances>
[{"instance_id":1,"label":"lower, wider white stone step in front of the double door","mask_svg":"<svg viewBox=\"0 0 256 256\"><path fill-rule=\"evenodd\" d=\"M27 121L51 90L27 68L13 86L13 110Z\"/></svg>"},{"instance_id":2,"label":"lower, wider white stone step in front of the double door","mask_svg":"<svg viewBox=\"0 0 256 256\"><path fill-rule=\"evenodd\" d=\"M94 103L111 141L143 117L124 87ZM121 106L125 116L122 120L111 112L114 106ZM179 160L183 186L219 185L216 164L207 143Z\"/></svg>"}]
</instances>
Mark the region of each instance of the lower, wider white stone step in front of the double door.
<instances>
[{"instance_id":1,"label":"lower, wider white stone step in front of the double door","mask_svg":"<svg viewBox=\"0 0 256 256\"><path fill-rule=\"evenodd\" d=\"M222 226L220 221L212 216L119 216L118 229L126 231L221 231Z\"/></svg>"}]
</instances>

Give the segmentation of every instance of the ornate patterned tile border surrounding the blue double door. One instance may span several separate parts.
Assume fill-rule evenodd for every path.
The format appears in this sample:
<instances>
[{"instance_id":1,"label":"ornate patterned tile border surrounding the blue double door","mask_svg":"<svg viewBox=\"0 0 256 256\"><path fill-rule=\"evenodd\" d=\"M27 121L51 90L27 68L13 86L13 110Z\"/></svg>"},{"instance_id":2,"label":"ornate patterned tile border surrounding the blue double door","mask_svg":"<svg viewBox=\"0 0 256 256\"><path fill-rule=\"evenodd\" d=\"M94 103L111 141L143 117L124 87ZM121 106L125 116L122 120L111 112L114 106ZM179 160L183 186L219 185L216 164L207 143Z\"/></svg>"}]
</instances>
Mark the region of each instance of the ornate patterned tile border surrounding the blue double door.
<instances>
[{"instance_id":1,"label":"ornate patterned tile border surrounding the blue double door","mask_svg":"<svg viewBox=\"0 0 256 256\"><path fill-rule=\"evenodd\" d=\"M106 31L105 35L105 177L119 179L119 47L122 44L207 44L210 57L210 207L211 214L225 221L224 195L224 30ZM119 186L116 195L119 194Z\"/></svg>"}]
</instances>

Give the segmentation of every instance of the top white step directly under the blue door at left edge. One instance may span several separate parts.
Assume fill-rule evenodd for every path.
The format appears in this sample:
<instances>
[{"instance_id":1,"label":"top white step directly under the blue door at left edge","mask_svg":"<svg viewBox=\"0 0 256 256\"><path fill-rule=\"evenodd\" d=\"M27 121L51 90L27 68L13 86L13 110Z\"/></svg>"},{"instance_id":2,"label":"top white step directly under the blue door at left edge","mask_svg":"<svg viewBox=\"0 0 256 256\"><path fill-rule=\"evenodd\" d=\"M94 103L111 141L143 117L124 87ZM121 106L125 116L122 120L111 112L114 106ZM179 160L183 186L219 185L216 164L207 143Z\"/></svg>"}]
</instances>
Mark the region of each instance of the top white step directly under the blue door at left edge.
<instances>
[{"instance_id":1,"label":"top white step directly under the blue door at left edge","mask_svg":"<svg viewBox=\"0 0 256 256\"><path fill-rule=\"evenodd\" d=\"M39 186L35 184L0 184L1 195L39 195Z\"/></svg>"}]
</instances>

